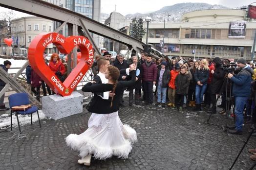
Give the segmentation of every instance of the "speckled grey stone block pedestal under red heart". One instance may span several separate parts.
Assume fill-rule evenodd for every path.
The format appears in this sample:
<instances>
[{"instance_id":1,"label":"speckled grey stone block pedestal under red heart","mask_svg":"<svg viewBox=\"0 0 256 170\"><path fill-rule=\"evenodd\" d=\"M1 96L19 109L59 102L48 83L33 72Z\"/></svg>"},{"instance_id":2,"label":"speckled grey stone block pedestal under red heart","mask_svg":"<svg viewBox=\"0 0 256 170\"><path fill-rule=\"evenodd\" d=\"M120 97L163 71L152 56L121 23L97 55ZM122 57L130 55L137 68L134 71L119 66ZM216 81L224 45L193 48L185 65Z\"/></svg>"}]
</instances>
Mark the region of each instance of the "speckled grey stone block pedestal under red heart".
<instances>
[{"instance_id":1,"label":"speckled grey stone block pedestal under red heart","mask_svg":"<svg viewBox=\"0 0 256 170\"><path fill-rule=\"evenodd\" d=\"M83 112L83 95L74 91L70 96L43 96L43 113L51 119L62 119Z\"/></svg>"}]
</instances>

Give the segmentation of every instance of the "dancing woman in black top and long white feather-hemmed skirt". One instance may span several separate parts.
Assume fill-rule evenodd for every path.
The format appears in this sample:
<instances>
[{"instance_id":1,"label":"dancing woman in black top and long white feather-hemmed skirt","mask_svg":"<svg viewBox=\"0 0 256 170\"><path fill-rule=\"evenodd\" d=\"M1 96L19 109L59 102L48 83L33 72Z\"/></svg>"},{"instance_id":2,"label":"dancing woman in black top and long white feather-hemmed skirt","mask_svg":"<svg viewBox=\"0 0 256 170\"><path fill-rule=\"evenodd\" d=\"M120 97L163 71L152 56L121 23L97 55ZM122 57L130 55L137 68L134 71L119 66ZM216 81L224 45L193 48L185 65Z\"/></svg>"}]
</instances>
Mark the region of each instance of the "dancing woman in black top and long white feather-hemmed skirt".
<instances>
[{"instance_id":1,"label":"dancing woman in black top and long white feather-hemmed skirt","mask_svg":"<svg viewBox=\"0 0 256 170\"><path fill-rule=\"evenodd\" d=\"M131 68L132 79L127 82L117 82L120 75L118 68L108 66L105 73L107 84L87 83L82 90L99 93L112 91L115 95L109 100L95 96L90 102L88 111L92 112L88 121L88 129L80 134L70 134L66 137L66 144L72 150L79 151L82 159L78 163L90 165L91 154L96 159L107 159L112 155L128 158L132 147L137 141L136 131L129 125L124 125L118 116L119 96L123 87L135 83L136 67Z\"/></svg>"}]
</instances>

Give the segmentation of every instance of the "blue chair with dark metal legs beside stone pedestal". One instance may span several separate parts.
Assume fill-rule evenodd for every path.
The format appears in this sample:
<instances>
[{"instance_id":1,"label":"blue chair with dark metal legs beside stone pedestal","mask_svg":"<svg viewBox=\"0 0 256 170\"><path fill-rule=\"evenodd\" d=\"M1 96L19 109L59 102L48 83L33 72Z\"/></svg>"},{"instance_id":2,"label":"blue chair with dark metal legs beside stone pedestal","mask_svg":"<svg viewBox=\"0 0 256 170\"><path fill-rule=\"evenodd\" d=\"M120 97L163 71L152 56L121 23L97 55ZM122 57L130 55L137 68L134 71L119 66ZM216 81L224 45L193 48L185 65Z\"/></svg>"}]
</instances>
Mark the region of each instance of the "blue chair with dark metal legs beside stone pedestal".
<instances>
[{"instance_id":1,"label":"blue chair with dark metal legs beside stone pedestal","mask_svg":"<svg viewBox=\"0 0 256 170\"><path fill-rule=\"evenodd\" d=\"M10 108L12 108L13 106L20 106L20 105L29 104L29 99L28 99L28 94L27 93L15 93L15 94L12 94L12 95L10 95L8 97L8 100L9 100ZM41 128L41 122L40 122L40 119L39 119L38 108L36 106L31 106L31 108L28 108L25 111L14 111L12 109L10 109L10 110L11 110L11 131L12 131L12 113L16 114L20 133L21 133L21 127L20 127L20 122L19 122L18 114L21 114L21 115L28 115L28 114L30 114L31 115L31 123L30 124L32 124L32 113L37 112L39 126Z\"/></svg>"}]
</instances>

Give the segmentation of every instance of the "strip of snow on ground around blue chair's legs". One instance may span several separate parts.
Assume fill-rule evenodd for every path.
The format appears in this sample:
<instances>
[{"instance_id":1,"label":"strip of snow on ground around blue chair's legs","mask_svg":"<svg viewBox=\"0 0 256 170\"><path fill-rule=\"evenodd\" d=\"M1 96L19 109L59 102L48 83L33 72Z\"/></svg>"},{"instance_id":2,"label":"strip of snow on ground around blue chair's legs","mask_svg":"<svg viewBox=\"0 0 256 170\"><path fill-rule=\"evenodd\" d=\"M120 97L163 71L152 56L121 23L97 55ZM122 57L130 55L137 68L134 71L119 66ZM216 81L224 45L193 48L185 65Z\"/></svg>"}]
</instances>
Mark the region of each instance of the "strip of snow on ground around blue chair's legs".
<instances>
[{"instance_id":1,"label":"strip of snow on ground around blue chair's legs","mask_svg":"<svg viewBox=\"0 0 256 170\"><path fill-rule=\"evenodd\" d=\"M46 119L46 116L44 115L44 113L42 112L42 110L39 110L39 118L40 120ZM30 123L30 115L18 115L19 121L20 121L20 126L23 126L25 124L29 124ZM38 121L38 116L37 113L33 113L32 114L32 122L36 122ZM17 118L15 116L15 114L12 115L12 123L13 123L13 127L18 127L18 121ZM41 121L42 124L42 121ZM8 126L11 126L11 118L10 118L10 114L3 114L0 115L0 129L2 128L6 128Z\"/></svg>"}]
</instances>

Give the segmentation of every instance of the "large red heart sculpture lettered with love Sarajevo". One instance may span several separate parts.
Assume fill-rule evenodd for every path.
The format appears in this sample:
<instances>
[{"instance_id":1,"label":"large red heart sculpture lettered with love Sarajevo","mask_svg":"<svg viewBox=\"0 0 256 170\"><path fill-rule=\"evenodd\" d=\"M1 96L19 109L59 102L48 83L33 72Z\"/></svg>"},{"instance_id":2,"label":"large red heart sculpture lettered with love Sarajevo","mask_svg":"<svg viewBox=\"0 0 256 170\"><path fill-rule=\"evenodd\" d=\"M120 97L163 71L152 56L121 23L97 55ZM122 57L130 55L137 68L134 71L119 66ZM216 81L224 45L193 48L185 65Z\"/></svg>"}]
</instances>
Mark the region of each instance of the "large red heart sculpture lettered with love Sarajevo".
<instances>
[{"instance_id":1,"label":"large red heart sculpture lettered with love Sarajevo","mask_svg":"<svg viewBox=\"0 0 256 170\"><path fill-rule=\"evenodd\" d=\"M61 53L68 54L78 46L81 50L81 60L62 83L55 73L44 63L43 52L48 44L56 45ZM31 67L43 79L43 81L54 89L55 93L62 96L70 95L75 87L85 76L87 70L93 63L93 47L84 36L64 37L62 34L50 33L37 35L28 48L28 60Z\"/></svg>"}]
</instances>

